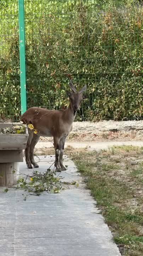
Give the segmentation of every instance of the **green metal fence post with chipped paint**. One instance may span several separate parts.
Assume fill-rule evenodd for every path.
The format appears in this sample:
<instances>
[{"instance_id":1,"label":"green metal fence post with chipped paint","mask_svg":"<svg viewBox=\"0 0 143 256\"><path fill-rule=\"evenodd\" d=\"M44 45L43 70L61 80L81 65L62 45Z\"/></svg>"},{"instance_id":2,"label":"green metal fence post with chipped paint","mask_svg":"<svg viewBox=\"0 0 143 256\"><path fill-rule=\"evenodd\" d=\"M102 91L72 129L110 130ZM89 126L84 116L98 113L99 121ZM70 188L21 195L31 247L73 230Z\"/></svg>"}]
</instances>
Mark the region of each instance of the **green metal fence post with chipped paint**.
<instances>
[{"instance_id":1,"label":"green metal fence post with chipped paint","mask_svg":"<svg viewBox=\"0 0 143 256\"><path fill-rule=\"evenodd\" d=\"M26 69L25 69L25 27L24 0L18 0L19 6L19 50L20 50L20 80L21 80L21 114L27 109L26 104Z\"/></svg>"}]
</instances>

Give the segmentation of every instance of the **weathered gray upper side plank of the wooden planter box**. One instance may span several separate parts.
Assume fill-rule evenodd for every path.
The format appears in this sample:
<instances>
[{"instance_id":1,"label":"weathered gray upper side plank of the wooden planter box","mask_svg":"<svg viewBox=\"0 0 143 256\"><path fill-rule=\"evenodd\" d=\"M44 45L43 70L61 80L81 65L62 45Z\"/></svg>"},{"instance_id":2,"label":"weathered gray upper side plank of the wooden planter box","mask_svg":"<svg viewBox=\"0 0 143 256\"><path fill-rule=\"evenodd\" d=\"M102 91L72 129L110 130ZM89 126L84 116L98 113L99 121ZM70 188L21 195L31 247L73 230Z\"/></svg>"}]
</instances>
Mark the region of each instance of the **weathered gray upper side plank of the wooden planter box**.
<instances>
[{"instance_id":1,"label":"weathered gray upper side plank of the wooden planter box","mask_svg":"<svg viewBox=\"0 0 143 256\"><path fill-rule=\"evenodd\" d=\"M0 150L25 149L28 134L0 134Z\"/></svg>"}]
</instances>

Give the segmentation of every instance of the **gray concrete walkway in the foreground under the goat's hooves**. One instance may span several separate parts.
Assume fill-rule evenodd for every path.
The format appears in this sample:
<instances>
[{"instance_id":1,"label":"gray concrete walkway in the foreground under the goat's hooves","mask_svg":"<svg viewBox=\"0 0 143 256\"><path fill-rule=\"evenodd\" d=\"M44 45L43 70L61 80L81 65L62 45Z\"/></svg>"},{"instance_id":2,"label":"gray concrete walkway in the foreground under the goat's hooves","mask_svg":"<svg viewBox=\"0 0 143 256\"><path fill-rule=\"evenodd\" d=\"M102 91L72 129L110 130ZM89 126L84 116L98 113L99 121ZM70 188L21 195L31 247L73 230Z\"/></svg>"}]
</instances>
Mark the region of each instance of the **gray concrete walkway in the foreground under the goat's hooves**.
<instances>
[{"instance_id":1,"label":"gray concrete walkway in the foreground under the goat's hooves","mask_svg":"<svg viewBox=\"0 0 143 256\"><path fill-rule=\"evenodd\" d=\"M38 158L35 160L38 161ZM54 158L40 156L45 171ZM23 200L23 191L0 188L0 255L119 256L108 226L95 206L72 161L63 180L79 182L59 194L43 193ZM20 171L30 173L24 163ZM26 194L26 192L24 192Z\"/></svg>"}]
</instances>

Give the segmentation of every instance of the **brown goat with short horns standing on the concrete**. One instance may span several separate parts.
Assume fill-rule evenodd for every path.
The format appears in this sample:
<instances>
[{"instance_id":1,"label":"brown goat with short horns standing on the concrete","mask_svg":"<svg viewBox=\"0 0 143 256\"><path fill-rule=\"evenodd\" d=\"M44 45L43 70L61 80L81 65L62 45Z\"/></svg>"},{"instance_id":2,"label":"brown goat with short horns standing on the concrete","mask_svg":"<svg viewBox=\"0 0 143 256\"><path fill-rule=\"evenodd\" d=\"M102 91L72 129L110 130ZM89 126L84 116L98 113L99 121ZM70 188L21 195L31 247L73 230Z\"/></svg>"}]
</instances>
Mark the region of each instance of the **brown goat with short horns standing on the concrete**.
<instances>
[{"instance_id":1,"label":"brown goat with short horns standing on the concrete","mask_svg":"<svg viewBox=\"0 0 143 256\"><path fill-rule=\"evenodd\" d=\"M63 150L65 139L72 130L72 123L76 116L76 111L80 108L80 103L84 100L82 92L86 91L86 85L77 92L70 81L69 86L72 92L67 91L70 99L69 107L66 110L47 110L40 107L29 108L21 117L21 121L26 124L33 124L34 130L29 130L29 137L25 149L25 158L28 168L39 167L34 161L34 147L40 136L53 137L55 147L55 167L56 171L66 170L63 166Z\"/></svg>"}]
</instances>

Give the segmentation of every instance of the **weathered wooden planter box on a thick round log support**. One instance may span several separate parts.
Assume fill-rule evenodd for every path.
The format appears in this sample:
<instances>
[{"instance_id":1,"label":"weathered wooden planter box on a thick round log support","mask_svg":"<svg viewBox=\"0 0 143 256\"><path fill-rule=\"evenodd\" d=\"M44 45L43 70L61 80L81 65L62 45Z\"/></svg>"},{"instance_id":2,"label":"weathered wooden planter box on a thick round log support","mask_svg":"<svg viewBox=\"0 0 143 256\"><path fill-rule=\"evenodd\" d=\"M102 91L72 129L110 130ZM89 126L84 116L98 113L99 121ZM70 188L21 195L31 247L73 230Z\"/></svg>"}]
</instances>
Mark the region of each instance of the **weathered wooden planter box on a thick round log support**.
<instances>
[{"instance_id":1,"label":"weathered wooden planter box on a thick round log support","mask_svg":"<svg viewBox=\"0 0 143 256\"><path fill-rule=\"evenodd\" d=\"M12 123L0 123L0 129L12 126ZM23 162L23 149L27 140L27 129L25 134L0 133L0 186L12 186L17 183L19 162Z\"/></svg>"}]
</instances>

